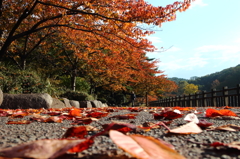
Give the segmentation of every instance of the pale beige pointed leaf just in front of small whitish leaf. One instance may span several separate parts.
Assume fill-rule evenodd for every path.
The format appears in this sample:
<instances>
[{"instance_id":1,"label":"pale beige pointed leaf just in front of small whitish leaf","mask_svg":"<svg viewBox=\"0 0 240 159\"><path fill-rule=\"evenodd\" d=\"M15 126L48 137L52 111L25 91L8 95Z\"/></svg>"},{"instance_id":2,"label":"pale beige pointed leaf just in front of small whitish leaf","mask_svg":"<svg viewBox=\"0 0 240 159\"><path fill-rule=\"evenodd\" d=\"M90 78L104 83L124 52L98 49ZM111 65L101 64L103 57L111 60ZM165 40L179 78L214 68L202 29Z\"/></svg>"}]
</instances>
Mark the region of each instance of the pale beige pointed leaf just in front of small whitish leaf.
<instances>
[{"instance_id":1,"label":"pale beige pointed leaf just in front of small whitish leaf","mask_svg":"<svg viewBox=\"0 0 240 159\"><path fill-rule=\"evenodd\" d=\"M201 132L202 129L194 122L189 122L185 125L168 131L168 133L174 134L199 134Z\"/></svg>"}]
</instances>

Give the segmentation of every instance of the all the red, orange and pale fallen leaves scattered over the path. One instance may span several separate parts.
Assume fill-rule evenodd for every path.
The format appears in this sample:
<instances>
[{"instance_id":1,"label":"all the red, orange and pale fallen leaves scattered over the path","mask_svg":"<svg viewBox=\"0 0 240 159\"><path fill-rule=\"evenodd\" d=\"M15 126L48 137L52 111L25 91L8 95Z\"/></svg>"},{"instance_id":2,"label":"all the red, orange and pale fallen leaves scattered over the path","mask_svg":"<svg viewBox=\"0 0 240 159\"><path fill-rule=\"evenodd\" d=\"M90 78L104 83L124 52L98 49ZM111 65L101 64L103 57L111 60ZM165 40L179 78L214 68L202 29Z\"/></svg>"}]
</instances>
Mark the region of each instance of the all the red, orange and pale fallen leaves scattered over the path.
<instances>
[{"instance_id":1,"label":"all the red, orange and pale fallen leaves scattered over the path","mask_svg":"<svg viewBox=\"0 0 240 159\"><path fill-rule=\"evenodd\" d=\"M141 131L150 131L151 129L161 129L167 134L175 135L189 135L202 133L202 129L206 130L225 130L225 131L239 131L240 127L233 124L212 127L214 123L207 120L219 117L232 120L238 118L237 114L229 110L230 108L216 110L207 109L205 112L206 119L198 120L195 114L201 114L195 108L154 108L154 112L149 110L156 122L145 122L143 125L134 125L127 122L112 122L110 124L102 125L102 129L91 127L90 123L98 122L103 117L108 117L111 112L119 110L129 110L130 112L148 111L147 109L139 108L97 108L97 109L29 109L29 110L4 110L0 109L1 117L9 118L23 118L30 116L29 120L7 121L6 124L31 124L32 122L53 122L62 123L63 120L72 121L73 127L67 128L65 134L59 139L43 139L31 141L28 143L19 144L14 147L4 148L0 150L0 156L14 157L14 158L39 158L39 156L46 158L57 158L63 154L78 153L87 150L94 143L94 138L101 135L108 135L113 142L123 149L126 153L131 154L136 158L185 158L180 155L171 143L163 139L154 138L151 136L143 136L138 134ZM177 111L176 111L177 110ZM194 112L192 111L194 110ZM189 113L190 112L190 113ZM184 117L184 114L186 116ZM42 116L40 114L46 114ZM109 115L111 116L111 115ZM109 119L133 120L137 114L115 115L108 117ZM167 125L174 123L174 120L183 120L188 123L179 127L170 129ZM221 119L221 118L220 118ZM159 121L160 120L160 121ZM101 124L100 124L101 125ZM88 134L89 131L96 132L94 135ZM196 143L196 142L195 142ZM200 144L200 143L198 143ZM228 147L240 150L239 142L222 143L213 142L211 144L204 144L213 147ZM47 145L47 146L46 146ZM59 146L56 146L59 145ZM129 146L126 146L129 145ZM14 153L13 153L14 152ZM18 152L18 153L16 153Z\"/></svg>"}]
</instances>

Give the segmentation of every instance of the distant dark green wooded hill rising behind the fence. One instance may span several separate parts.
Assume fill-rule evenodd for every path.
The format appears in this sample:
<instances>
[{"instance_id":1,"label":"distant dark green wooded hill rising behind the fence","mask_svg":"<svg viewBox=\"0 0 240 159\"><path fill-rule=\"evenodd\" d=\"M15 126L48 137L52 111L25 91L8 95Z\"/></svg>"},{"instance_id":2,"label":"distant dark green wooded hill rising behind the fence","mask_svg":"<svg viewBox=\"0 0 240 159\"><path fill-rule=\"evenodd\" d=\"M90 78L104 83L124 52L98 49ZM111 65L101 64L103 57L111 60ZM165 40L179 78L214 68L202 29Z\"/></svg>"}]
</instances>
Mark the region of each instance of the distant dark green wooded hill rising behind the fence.
<instances>
[{"instance_id":1,"label":"distant dark green wooded hill rising behind the fence","mask_svg":"<svg viewBox=\"0 0 240 159\"><path fill-rule=\"evenodd\" d=\"M224 86L228 86L228 88L236 87L237 84L240 84L240 64L236 67L230 67L202 77L194 77L190 80L177 77L169 78L169 80L175 81L176 83L181 80L187 81L188 83L198 85L200 90L206 91L210 91L212 88L219 90Z\"/></svg>"}]
</instances>

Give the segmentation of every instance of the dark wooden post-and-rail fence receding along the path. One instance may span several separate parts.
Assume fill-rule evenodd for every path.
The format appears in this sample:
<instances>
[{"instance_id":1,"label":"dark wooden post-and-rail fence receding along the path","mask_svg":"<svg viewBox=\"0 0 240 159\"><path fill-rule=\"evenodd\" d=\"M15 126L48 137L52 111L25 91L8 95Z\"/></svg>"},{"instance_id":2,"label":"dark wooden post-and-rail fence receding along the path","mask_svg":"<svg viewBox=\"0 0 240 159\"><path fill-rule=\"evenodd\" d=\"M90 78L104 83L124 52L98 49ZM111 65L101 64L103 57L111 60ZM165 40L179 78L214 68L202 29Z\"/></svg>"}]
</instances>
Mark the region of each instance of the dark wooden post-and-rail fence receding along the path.
<instances>
[{"instance_id":1,"label":"dark wooden post-and-rail fence receding along the path","mask_svg":"<svg viewBox=\"0 0 240 159\"><path fill-rule=\"evenodd\" d=\"M212 89L210 92L202 91L195 94L176 96L153 101L150 106L238 106L240 107L240 84L235 88L223 87L222 90Z\"/></svg>"}]
</instances>

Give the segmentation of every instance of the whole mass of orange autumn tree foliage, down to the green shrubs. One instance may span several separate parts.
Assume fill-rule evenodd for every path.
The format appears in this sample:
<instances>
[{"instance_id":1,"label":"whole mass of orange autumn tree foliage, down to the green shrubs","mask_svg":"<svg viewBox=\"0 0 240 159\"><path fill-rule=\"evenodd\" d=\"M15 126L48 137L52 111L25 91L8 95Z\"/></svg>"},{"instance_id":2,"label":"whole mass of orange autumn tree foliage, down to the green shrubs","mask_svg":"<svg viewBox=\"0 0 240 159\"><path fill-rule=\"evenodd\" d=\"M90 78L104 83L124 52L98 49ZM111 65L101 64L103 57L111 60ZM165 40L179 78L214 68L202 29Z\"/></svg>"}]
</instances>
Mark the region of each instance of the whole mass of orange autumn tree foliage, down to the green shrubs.
<instances>
[{"instance_id":1,"label":"whole mass of orange autumn tree foliage, down to the green shrubs","mask_svg":"<svg viewBox=\"0 0 240 159\"><path fill-rule=\"evenodd\" d=\"M132 84L146 94L160 87L171 90L172 83L156 76L162 73L155 70L156 63L146 61L146 53L156 49L146 36L154 32L141 26L160 27L190 4L191 0L164 7L144 0L2 0L0 60L12 58L24 69L30 54L47 59L47 52L59 47L51 63L70 69L73 90L79 74L94 87L115 91Z\"/></svg>"}]
</instances>

